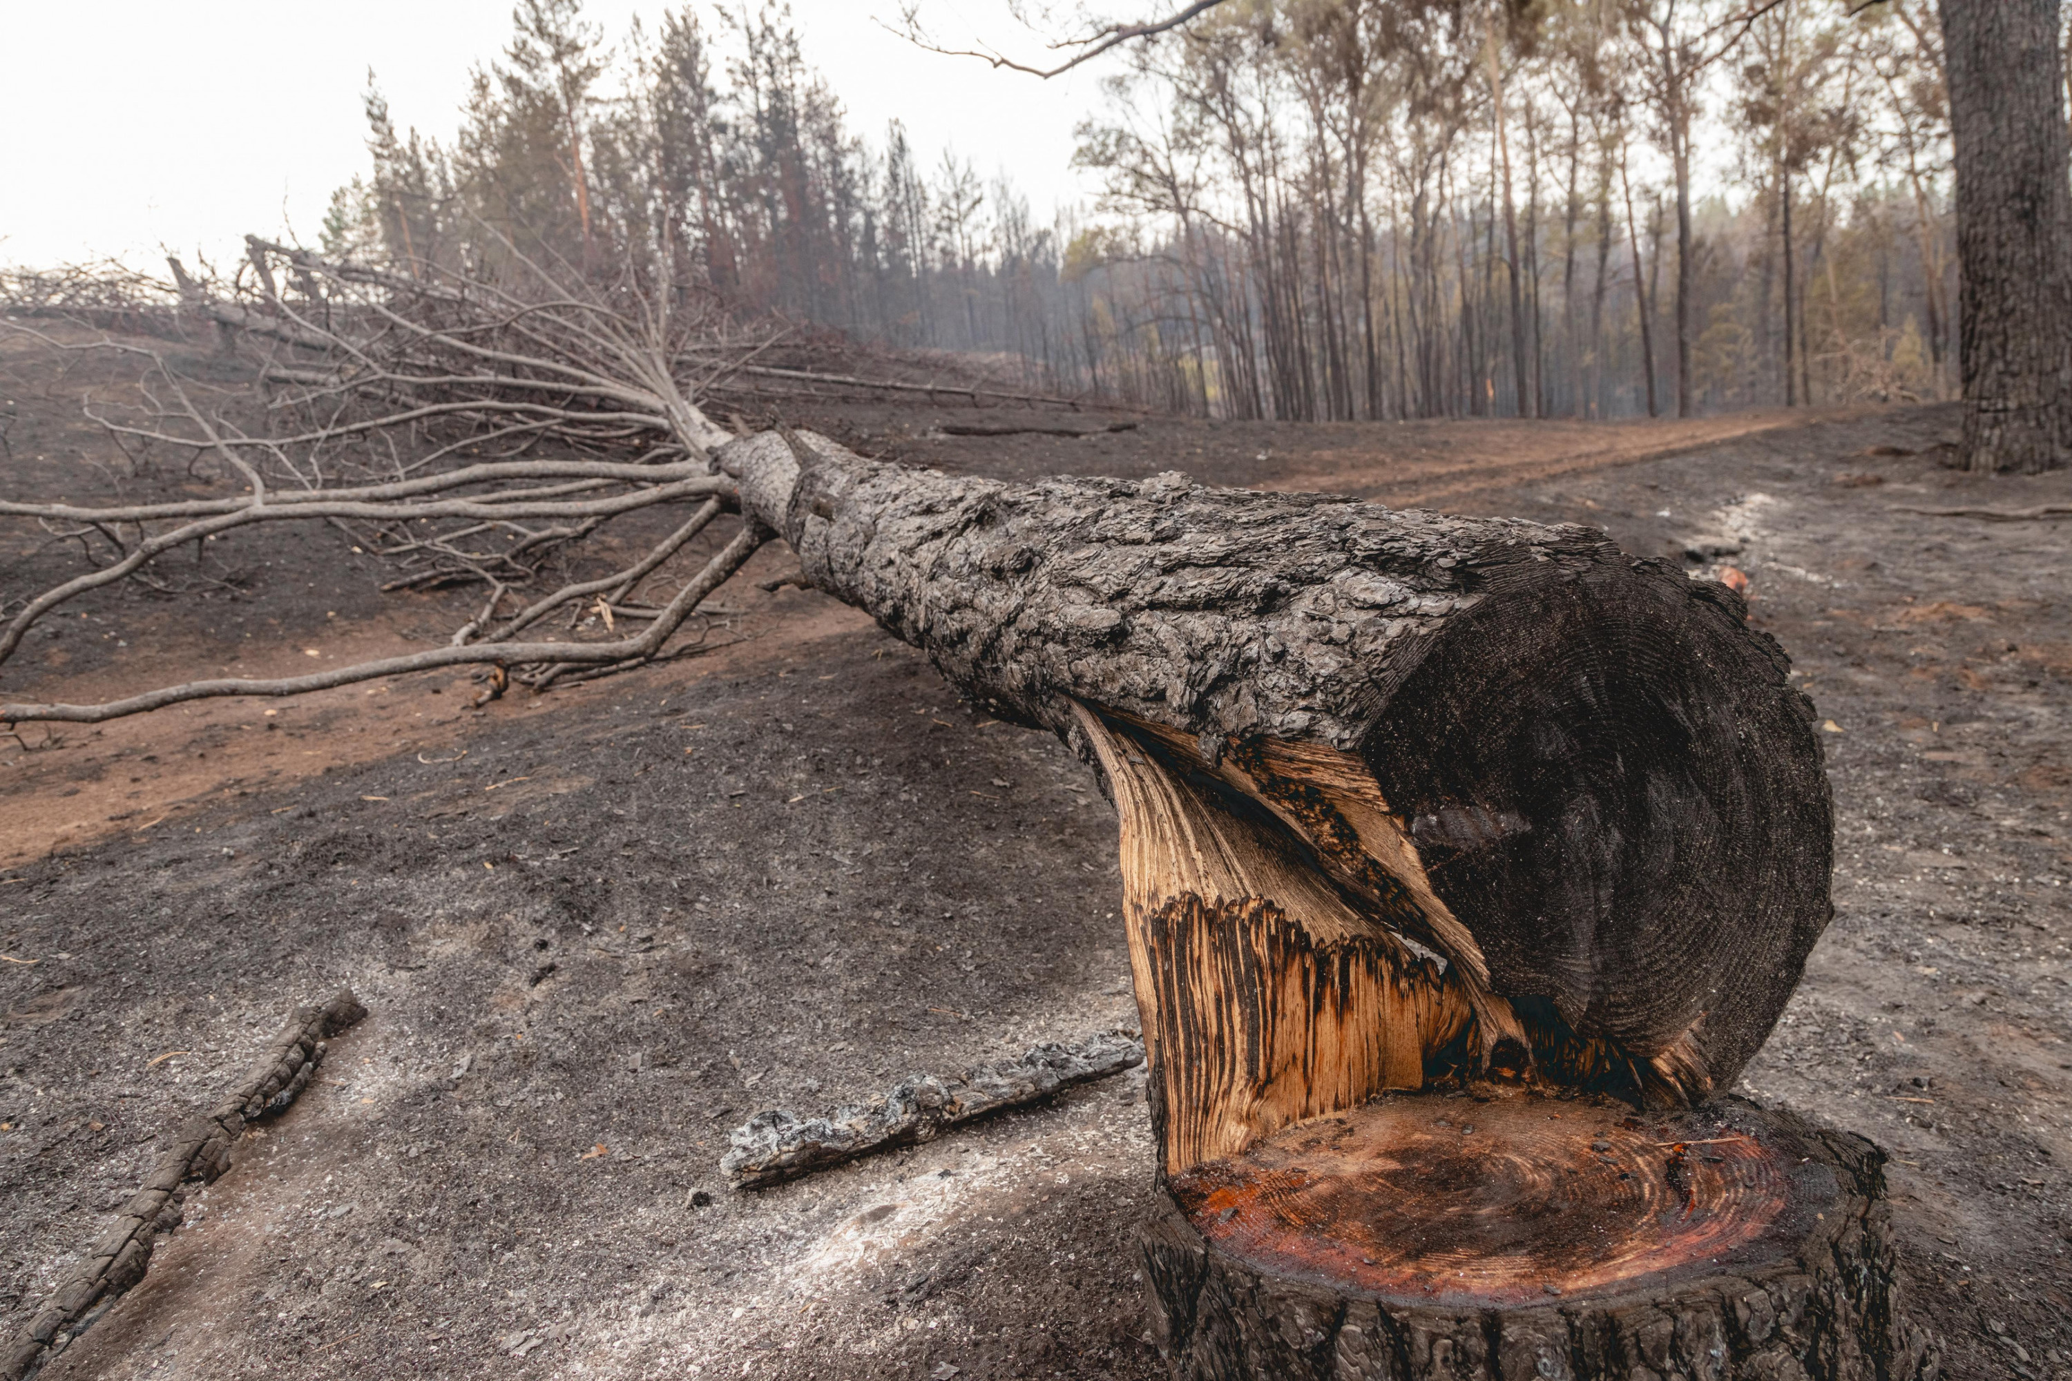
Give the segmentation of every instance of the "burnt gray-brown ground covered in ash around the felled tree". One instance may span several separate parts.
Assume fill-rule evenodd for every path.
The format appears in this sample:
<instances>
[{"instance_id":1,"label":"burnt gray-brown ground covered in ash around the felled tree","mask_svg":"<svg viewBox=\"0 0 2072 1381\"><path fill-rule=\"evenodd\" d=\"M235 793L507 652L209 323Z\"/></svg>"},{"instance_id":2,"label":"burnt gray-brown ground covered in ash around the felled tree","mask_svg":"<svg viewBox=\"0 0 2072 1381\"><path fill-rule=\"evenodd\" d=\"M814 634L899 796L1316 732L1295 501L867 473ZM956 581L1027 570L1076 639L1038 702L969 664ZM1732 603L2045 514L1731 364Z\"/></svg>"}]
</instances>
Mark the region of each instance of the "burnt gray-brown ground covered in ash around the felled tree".
<instances>
[{"instance_id":1,"label":"burnt gray-brown ground covered in ash around the felled tree","mask_svg":"<svg viewBox=\"0 0 2072 1381\"><path fill-rule=\"evenodd\" d=\"M131 484L21 369L8 489ZM1838 868L1743 1091L1890 1151L1946 1375L2072 1377L2068 526L1904 511L2064 503L2072 474L1948 472L1948 408L1088 439L934 433L1075 414L792 416L955 470L1177 468L1585 522L1745 571L1832 725ZM373 594L329 532L205 555L244 576L89 600L8 698L361 656L466 605ZM0 549L0 582L75 559ZM371 1010L44 1375L1164 1375L1129 1246L1142 1070L723 1184L756 1110L1135 1010L1115 818L1057 741L959 706L825 596L717 603L702 656L485 710L448 673L0 739L0 1329L290 1004L350 983Z\"/></svg>"}]
</instances>

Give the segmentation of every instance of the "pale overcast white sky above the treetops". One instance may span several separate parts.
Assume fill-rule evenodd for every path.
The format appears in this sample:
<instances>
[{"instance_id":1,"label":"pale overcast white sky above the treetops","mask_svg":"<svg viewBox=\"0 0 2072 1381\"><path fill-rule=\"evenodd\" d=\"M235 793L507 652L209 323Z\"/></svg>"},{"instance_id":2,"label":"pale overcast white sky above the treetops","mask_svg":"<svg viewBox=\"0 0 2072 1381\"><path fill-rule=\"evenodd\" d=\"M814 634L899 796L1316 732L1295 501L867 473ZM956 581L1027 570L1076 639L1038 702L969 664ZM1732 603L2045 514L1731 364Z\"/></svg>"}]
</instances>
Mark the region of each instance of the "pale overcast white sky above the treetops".
<instances>
[{"instance_id":1,"label":"pale overcast white sky above the treetops","mask_svg":"<svg viewBox=\"0 0 2072 1381\"><path fill-rule=\"evenodd\" d=\"M586 4L609 41L665 8ZM986 178L1007 170L1038 215L1084 197L1071 128L1098 99L1098 72L1036 81L920 52L872 23L895 21L899 0L792 0L792 12L806 60L874 147L897 116L922 159L953 145ZM1032 48L1003 0L926 12L945 41ZM247 232L290 226L315 242L332 188L367 168L367 68L398 126L443 139L468 68L510 35L510 0L0 0L0 263L157 269L162 246L234 255Z\"/></svg>"}]
</instances>

